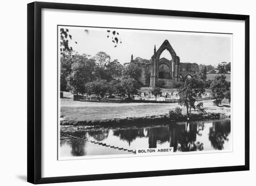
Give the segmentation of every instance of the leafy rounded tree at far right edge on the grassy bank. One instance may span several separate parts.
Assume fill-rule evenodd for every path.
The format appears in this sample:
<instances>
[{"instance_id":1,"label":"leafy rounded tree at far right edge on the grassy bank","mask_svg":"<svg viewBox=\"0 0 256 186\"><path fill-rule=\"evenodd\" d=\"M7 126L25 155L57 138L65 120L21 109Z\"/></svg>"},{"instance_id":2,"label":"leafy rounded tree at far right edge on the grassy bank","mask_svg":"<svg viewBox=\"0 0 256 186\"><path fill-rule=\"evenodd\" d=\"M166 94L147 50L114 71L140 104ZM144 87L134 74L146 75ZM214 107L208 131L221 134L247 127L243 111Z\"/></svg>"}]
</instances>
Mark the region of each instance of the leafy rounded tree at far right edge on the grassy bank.
<instances>
[{"instance_id":1,"label":"leafy rounded tree at far right edge on the grassy bank","mask_svg":"<svg viewBox=\"0 0 256 186\"><path fill-rule=\"evenodd\" d=\"M226 81L226 76L216 76L210 85L211 95L215 99L215 103L218 106L222 103L222 99L224 99L226 91L229 90L229 84Z\"/></svg>"}]
</instances>

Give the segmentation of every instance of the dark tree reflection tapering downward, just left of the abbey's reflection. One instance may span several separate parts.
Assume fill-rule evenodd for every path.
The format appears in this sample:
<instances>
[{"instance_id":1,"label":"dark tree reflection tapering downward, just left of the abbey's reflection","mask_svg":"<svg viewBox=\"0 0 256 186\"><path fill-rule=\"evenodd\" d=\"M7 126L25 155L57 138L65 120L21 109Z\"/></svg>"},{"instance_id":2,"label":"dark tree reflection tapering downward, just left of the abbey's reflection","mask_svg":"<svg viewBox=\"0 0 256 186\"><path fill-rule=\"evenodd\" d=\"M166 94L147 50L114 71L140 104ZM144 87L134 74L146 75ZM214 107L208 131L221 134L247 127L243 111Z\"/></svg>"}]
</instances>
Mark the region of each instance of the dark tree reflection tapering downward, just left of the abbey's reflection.
<instances>
[{"instance_id":1,"label":"dark tree reflection tapering downward, just left of the abbey's reflection","mask_svg":"<svg viewBox=\"0 0 256 186\"><path fill-rule=\"evenodd\" d=\"M143 128L134 128L134 129L121 129L114 130L115 136L119 136L121 140L127 141L129 146L132 141L134 141L137 137L144 137Z\"/></svg>"}]
</instances>

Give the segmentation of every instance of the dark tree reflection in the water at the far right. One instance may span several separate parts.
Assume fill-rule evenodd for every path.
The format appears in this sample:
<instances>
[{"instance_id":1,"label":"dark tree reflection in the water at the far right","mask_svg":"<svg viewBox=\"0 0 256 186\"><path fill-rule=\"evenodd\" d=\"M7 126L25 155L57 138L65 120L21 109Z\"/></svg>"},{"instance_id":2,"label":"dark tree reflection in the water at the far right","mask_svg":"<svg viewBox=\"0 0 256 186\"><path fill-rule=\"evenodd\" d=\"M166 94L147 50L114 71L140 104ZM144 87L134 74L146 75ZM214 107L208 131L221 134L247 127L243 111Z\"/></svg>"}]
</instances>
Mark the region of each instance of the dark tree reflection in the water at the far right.
<instances>
[{"instance_id":1,"label":"dark tree reflection in the water at the far right","mask_svg":"<svg viewBox=\"0 0 256 186\"><path fill-rule=\"evenodd\" d=\"M230 121L224 120L222 122L213 122L213 126L209 130L209 141L213 148L222 150L225 141L229 141Z\"/></svg>"}]
</instances>

